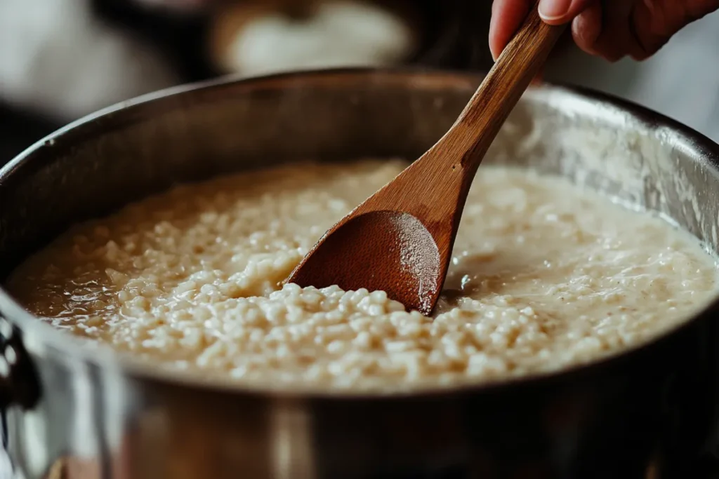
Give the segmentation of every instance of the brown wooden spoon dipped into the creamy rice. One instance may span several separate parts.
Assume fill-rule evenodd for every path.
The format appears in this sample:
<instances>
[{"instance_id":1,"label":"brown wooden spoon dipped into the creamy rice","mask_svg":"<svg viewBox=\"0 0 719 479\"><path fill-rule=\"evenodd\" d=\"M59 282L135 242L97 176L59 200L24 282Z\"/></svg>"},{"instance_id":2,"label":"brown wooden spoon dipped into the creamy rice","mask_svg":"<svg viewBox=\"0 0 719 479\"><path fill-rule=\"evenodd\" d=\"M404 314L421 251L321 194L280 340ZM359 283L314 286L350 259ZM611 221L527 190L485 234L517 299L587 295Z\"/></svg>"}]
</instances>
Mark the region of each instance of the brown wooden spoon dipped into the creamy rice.
<instances>
[{"instance_id":1,"label":"brown wooden spoon dipped into the creamy rice","mask_svg":"<svg viewBox=\"0 0 719 479\"><path fill-rule=\"evenodd\" d=\"M535 4L452 129L334 225L287 281L381 290L431 314L477 168L563 30L542 22Z\"/></svg>"}]
</instances>

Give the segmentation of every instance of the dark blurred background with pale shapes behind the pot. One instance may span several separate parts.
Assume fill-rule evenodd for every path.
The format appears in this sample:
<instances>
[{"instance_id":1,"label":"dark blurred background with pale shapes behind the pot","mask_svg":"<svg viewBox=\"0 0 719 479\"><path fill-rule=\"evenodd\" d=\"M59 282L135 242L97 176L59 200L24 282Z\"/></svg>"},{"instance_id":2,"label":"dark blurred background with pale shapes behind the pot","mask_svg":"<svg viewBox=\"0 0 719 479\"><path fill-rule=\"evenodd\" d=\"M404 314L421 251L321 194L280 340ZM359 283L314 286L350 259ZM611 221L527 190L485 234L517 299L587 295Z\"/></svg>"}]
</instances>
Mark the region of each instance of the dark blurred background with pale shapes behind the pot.
<instances>
[{"instance_id":1,"label":"dark blurred background with pale shapes behind the pot","mask_svg":"<svg viewBox=\"0 0 719 479\"><path fill-rule=\"evenodd\" d=\"M104 106L218 75L426 65L487 70L491 0L0 0L0 164ZM614 93L719 141L719 14L651 60L564 42L546 77Z\"/></svg>"}]
</instances>

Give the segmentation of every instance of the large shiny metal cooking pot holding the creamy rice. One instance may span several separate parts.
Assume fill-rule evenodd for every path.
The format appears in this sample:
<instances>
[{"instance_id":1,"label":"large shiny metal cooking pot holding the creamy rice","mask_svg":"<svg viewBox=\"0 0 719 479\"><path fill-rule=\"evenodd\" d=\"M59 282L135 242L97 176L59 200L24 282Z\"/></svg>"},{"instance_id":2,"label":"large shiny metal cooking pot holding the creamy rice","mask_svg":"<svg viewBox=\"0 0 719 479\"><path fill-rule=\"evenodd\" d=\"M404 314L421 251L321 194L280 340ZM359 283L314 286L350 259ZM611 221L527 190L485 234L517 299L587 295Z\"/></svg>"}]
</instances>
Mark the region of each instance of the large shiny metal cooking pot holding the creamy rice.
<instances>
[{"instance_id":1,"label":"large shiny metal cooking pot holding the creamy rice","mask_svg":"<svg viewBox=\"0 0 719 479\"><path fill-rule=\"evenodd\" d=\"M296 159L418 157L479 81L336 70L101 111L0 170L0 276L71 223L177 182ZM642 108L534 88L486 161L564 175L718 246L719 147ZM158 371L81 345L0 292L4 443L27 479L695 478L713 465L718 306L562 373L372 396Z\"/></svg>"}]
</instances>

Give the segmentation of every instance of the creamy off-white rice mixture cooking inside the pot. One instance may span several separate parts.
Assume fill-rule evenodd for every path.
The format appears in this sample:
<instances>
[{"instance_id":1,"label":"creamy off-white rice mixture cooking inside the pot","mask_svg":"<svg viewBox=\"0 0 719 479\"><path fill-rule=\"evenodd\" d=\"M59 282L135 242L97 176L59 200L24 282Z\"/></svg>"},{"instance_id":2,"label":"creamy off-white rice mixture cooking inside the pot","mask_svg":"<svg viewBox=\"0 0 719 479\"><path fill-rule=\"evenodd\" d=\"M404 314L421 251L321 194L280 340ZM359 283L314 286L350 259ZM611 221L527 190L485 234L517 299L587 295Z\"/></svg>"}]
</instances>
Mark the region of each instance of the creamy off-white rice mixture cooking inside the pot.
<instances>
[{"instance_id":1,"label":"creamy off-white rice mixture cooking inside the pot","mask_svg":"<svg viewBox=\"0 0 719 479\"><path fill-rule=\"evenodd\" d=\"M591 361L676 325L713 257L564 180L482 167L434 318L383 292L281 285L403 162L305 164L186 185L78 225L8 287L55 327L236 381L381 388Z\"/></svg>"}]
</instances>

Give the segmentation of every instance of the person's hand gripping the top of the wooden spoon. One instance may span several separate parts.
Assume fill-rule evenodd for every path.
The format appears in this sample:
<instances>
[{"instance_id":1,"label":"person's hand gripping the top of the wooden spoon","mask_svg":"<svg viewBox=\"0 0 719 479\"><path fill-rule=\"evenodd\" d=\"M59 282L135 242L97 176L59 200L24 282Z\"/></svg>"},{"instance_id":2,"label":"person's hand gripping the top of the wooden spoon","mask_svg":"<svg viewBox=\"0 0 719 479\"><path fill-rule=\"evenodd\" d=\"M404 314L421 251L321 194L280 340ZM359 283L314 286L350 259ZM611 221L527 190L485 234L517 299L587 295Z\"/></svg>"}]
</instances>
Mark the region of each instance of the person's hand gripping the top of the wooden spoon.
<instances>
[{"instance_id":1,"label":"person's hand gripping the top of the wooden spoon","mask_svg":"<svg viewBox=\"0 0 719 479\"><path fill-rule=\"evenodd\" d=\"M497 59L523 22L533 0L494 0L490 50ZM590 55L610 62L654 55L682 27L719 9L719 0L541 0L551 25L572 22L572 37Z\"/></svg>"}]
</instances>

